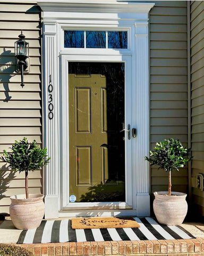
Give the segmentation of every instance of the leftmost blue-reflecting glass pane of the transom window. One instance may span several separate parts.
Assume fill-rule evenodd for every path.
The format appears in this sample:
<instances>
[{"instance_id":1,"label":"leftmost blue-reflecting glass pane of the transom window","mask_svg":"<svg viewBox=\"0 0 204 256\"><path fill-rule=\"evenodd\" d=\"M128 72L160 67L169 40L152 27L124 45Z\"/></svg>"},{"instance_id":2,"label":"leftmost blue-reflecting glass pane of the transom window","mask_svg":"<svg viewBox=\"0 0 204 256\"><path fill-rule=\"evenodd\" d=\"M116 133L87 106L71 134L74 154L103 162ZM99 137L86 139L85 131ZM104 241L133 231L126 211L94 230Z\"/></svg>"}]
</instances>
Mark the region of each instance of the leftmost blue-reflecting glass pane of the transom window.
<instances>
[{"instance_id":1,"label":"leftmost blue-reflecting glass pane of the transom window","mask_svg":"<svg viewBox=\"0 0 204 256\"><path fill-rule=\"evenodd\" d=\"M64 47L84 48L84 31L64 31Z\"/></svg>"}]
</instances>

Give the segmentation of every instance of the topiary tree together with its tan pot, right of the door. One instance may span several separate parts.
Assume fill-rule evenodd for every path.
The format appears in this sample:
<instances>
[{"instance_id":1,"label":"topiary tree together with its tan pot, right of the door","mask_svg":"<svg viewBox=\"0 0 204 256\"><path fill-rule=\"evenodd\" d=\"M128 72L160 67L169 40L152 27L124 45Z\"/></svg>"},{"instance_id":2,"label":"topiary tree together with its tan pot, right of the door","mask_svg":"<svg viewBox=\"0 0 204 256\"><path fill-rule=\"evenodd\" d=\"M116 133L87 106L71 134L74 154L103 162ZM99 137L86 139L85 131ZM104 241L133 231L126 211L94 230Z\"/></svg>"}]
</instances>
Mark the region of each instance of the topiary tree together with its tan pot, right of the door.
<instances>
[{"instance_id":1,"label":"topiary tree together with its tan pot, right of the door","mask_svg":"<svg viewBox=\"0 0 204 256\"><path fill-rule=\"evenodd\" d=\"M188 204L185 201L186 194L172 192L172 171L179 171L179 168L191 159L191 150L182 146L179 140L165 139L156 143L154 150L149 151L149 158L145 159L150 165L157 165L158 170L168 172L168 191L155 192L153 209L159 223L173 226L181 225L187 210Z\"/></svg>"}]
</instances>

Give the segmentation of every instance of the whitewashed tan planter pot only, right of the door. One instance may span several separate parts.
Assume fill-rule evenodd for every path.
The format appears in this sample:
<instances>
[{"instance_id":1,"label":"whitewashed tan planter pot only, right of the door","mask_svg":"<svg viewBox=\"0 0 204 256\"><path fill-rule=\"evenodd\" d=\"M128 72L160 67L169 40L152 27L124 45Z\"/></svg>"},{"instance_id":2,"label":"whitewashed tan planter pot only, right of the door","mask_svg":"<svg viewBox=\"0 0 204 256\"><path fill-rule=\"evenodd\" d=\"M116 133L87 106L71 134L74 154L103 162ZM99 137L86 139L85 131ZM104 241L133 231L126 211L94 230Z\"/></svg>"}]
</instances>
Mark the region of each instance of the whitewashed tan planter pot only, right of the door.
<instances>
[{"instance_id":1,"label":"whitewashed tan planter pot only, right of the door","mask_svg":"<svg viewBox=\"0 0 204 256\"><path fill-rule=\"evenodd\" d=\"M158 222L169 226L181 225L188 210L186 194L180 192L172 192L172 196L165 194L168 192L154 193L153 209Z\"/></svg>"}]
</instances>

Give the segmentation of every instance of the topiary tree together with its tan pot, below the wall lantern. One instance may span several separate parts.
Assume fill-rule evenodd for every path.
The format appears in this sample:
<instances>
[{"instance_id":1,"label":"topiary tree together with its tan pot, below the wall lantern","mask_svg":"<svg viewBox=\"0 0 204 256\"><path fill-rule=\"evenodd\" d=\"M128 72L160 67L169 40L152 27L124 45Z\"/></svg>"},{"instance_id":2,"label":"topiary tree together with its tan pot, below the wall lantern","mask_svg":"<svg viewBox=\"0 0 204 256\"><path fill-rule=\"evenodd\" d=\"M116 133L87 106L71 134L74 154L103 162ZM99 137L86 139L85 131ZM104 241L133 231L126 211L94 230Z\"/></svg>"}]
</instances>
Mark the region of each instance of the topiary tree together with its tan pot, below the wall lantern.
<instances>
[{"instance_id":1,"label":"topiary tree together with its tan pot, below the wall lantern","mask_svg":"<svg viewBox=\"0 0 204 256\"><path fill-rule=\"evenodd\" d=\"M28 193L28 172L40 170L49 163L47 149L40 149L27 138L15 141L11 152L4 150L2 160L14 171L25 172L25 194L11 196L10 217L18 229L33 229L40 226L45 213L44 195Z\"/></svg>"}]
</instances>

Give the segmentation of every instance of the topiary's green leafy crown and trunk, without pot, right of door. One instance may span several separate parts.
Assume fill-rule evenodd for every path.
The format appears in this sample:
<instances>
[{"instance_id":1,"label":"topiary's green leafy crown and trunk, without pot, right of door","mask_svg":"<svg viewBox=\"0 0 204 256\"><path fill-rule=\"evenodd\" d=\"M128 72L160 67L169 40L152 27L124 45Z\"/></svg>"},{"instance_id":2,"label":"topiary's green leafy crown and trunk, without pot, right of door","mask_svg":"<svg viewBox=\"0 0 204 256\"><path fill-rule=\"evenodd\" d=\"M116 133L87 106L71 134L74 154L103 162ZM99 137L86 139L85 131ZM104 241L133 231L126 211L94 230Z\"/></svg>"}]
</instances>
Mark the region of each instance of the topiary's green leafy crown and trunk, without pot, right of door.
<instances>
[{"instance_id":1,"label":"topiary's green leafy crown and trunk, without pot, right of door","mask_svg":"<svg viewBox=\"0 0 204 256\"><path fill-rule=\"evenodd\" d=\"M168 196L171 196L173 170L179 171L191 159L191 149L182 146L180 140L165 139L156 143L154 150L149 151L149 158L146 156L150 165L158 165L159 169L168 172Z\"/></svg>"}]
</instances>

